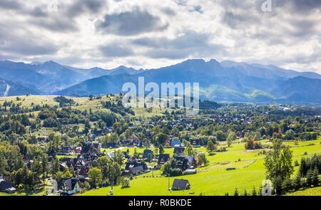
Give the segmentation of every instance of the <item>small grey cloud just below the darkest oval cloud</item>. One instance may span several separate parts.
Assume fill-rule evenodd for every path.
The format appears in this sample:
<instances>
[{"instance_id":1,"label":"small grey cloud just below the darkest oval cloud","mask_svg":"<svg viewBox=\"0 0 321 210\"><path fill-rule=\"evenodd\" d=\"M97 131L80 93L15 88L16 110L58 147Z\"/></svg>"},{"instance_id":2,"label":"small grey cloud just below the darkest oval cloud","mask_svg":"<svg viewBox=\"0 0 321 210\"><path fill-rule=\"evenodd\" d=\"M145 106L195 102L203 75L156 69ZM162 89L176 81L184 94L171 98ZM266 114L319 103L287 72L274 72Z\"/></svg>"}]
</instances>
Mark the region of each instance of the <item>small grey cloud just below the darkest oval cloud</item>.
<instances>
[{"instance_id":1,"label":"small grey cloud just below the darkest oval cloud","mask_svg":"<svg viewBox=\"0 0 321 210\"><path fill-rule=\"evenodd\" d=\"M110 43L104 46L99 46L99 51L106 57L128 57L134 53L127 45L123 46L121 43Z\"/></svg>"}]
</instances>

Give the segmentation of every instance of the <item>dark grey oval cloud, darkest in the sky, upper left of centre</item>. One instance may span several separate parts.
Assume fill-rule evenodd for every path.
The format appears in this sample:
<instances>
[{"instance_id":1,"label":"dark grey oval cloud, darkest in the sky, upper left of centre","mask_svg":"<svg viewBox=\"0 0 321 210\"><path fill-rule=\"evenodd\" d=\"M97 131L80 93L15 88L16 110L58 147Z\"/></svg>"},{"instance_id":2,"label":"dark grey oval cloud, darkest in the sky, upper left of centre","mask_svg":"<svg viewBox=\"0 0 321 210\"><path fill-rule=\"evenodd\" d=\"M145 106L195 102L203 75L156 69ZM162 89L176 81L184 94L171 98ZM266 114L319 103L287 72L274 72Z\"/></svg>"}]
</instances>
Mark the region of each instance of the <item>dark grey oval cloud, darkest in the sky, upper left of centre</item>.
<instances>
[{"instance_id":1,"label":"dark grey oval cloud, darkest in the sky, upper left of centre","mask_svg":"<svg viewBox=\"0 0 321 210\"><path fill-rule=\"evenodd\" d=\"M135 36L151 31L164 31L166 28L168 23L162 23L160 17L141 11L138 7L120 14L106 14L103 20L96 21L97 31L119 36Z\"/></svg>"}]
</instances>

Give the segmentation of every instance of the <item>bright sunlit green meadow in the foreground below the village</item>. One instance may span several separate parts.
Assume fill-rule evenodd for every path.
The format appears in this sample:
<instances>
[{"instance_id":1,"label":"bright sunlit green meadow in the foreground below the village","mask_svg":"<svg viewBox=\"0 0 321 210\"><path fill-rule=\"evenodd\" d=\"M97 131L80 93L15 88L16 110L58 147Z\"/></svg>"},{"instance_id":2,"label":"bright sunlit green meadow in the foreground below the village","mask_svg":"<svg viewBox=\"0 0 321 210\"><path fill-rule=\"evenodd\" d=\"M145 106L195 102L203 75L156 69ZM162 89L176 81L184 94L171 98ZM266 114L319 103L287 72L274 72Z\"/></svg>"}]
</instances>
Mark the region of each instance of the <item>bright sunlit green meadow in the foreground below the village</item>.
<instances>
[{"instance_id":1,"label":"bright sunlit green meadow in the foreground below the village","mask_svg":"<svg viewBox=\"0 0 321 210\"><path fill-rule=\"evenodd\" d=\"M287 142L293 151L293 162L307 152L307 155L321 153L320 138L311 142L299 142L294 146L294 142ZM314 145L311 145L314 144ZM133 154L133 148L129 149ZM138 152L143 152L142 148L137 148ZM109 152L112 149L109 149ZM200 152L205 152L205 148L198 148ZM120 186L113 188L116 196L187 196L187 195L206 195L223 196L226 192L233 195L235 188L243 194L246 189L248 192L259 189L265 179L264 155L258 155L261 150L248 151L244 148L244 143L233 144L228 148L228 152L217 152L208 155L210 163L206 167L198 168L198 174L182 177L170 177L170 187L174 179L188 179L191 188L187 191L168 191L168 177L161 176L161 171L154 171L134 177L131 187L121 189ZM165 153L173 154L173 149L165 149ZM240 161L239 161L240 159ZM235 167L235 170L227 171L226 168ZM295 167L295 172L299 167ZM294 173L295 174L295 173ZM86 191L82 196L106 196L111 188L102 188ZM311 189L312 190L312 189ZM319 189L320 190L320 189ZM193 193L193 194L192 194Z\"/></svg>"}]
</instances>

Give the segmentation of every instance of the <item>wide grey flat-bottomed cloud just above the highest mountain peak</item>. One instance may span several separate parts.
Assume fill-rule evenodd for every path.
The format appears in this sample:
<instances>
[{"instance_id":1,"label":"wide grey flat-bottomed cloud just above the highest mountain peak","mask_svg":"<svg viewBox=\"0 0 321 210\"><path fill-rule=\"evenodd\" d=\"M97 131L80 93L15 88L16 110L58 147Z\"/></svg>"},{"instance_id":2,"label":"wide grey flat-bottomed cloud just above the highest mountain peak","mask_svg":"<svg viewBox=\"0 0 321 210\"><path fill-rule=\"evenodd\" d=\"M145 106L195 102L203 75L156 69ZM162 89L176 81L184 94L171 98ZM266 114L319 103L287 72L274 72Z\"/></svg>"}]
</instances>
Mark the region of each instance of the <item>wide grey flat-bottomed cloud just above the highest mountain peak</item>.
<instances>
[{"instance_id":1,"label":"wide grey flat-bottomed cloud just above the highest mountain peak","mask_svg":"<svg viewBox=\"0 0 321 210\"><path fill-rule=\"evenodd\" d=\"M223 46L210 43L210 36L205 33L187 31L174 39L138 38L131 43L149 48L144 56L149 58L180 59L188 56L202 57L225 53Z\"/></svg>"}]
</instances>

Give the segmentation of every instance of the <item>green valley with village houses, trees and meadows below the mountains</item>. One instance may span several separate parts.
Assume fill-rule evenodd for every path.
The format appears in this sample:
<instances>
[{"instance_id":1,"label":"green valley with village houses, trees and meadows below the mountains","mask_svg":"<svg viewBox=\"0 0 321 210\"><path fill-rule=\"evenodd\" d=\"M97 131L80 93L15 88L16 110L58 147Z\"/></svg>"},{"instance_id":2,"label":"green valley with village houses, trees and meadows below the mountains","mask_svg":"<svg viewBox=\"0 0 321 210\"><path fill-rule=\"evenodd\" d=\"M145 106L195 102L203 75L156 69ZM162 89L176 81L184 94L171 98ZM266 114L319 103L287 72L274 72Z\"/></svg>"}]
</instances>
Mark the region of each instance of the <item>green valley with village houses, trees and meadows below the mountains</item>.
<instances>
[{"instance_id":1,"label":"green valley with village houses, trees and meadows below the mountains","mask_svg":"<svg viewBox=\"0 0 321 210\"><path fill-rule=\"evenodd\" d=\"M199 115L187 116L178 108L125 108L121 97L5 99L10 109L1 110L8 115L0 119L0 195L157 193L142 183L161 194L222 195L254 187L258 194L275 140L295 152L296 170L295 161L319 151L317 107L205 101ZM231 176L229 188L215 185L220 173ZM252 181L233 184L243 178L239 173Z\"/></svg>"}]
</instances>

